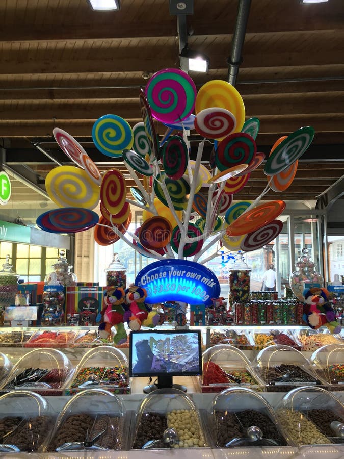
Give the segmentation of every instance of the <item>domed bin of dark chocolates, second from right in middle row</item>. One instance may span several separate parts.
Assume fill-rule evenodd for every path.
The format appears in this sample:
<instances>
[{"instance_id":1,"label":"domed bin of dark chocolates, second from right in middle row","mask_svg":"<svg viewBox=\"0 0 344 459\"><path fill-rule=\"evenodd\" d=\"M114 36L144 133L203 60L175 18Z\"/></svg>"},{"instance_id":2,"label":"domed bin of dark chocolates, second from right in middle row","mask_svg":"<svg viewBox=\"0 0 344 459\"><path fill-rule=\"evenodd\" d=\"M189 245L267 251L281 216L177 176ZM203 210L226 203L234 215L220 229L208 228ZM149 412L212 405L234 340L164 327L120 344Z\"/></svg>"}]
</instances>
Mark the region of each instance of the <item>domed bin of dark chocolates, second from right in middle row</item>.
<instances>
[{"instance_id":1,"label":"domed bin of dark chocolates, second from right in middle row","mask_svg":"<svg viewBox=\"0 0 344 459\"><path fill-rule=\"evenodd\" d=\"M287 392L300 386L321 384L308 360L291 346L262 349L252 365L267 392Z\"/></svg>"}]
</instances>

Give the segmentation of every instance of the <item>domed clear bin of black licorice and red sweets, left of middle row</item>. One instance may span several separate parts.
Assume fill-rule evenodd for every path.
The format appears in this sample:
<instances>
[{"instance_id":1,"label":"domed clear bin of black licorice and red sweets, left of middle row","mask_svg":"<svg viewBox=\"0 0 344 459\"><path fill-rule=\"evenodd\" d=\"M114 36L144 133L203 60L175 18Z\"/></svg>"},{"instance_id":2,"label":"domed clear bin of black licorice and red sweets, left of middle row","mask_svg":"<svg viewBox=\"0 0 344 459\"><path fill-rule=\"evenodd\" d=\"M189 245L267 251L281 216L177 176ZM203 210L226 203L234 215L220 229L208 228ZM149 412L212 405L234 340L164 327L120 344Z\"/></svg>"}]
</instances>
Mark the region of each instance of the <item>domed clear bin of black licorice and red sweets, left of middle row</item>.
<instances>
[{"instance_id":1,"label":"domed clear bin of black licorice and red sweets, left of middle row","mask_svg":"<svg viewBox=\"0 0 344 459\"><path fill-rule=\"evenodd\" d=\"M57 349L34 349L24 354L10 371L1 391L29 390L40 395L63 395L74 366Z\"/></svg>"}]
</instances>

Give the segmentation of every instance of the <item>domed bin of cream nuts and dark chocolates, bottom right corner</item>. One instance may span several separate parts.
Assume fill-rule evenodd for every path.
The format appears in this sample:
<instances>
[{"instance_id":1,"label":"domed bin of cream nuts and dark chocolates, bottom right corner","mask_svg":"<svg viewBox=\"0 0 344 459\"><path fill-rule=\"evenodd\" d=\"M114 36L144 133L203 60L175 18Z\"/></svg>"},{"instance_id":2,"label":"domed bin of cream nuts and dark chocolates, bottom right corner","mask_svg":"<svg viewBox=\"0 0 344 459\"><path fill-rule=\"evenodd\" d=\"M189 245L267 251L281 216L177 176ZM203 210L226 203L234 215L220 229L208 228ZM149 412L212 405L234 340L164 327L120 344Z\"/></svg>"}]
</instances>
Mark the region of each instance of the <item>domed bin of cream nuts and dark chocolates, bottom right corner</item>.
<instances>
[{"instance_id":1,"label":"domed bin of cream nuts and dark chocolates, bottom right corner","mask_svg":"<svg viewBox=\"0 0 344 459\"><path fill-rule=\"evenodd\" d=\"M282 398L275 413L290 444L344 442L344 406L325 389L311 386L293 389Z\"/></svg>"}]
</instances>

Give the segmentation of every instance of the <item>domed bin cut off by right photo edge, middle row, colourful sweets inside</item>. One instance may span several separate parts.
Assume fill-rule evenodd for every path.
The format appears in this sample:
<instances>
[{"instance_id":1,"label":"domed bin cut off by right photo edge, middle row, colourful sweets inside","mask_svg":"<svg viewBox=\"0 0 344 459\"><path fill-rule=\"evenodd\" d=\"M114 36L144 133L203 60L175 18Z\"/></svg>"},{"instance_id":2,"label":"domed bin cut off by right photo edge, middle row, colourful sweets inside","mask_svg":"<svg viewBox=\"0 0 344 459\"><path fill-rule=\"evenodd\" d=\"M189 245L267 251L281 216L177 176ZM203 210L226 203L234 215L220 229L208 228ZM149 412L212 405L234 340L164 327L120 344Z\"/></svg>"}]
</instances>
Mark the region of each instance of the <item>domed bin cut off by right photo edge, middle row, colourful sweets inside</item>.
<instances>
[{"instance_id":1,"label":"domed bin cut off by right photo edge, middle row, colourful sweets inside","mask_svg":"<svg viewBox=\"0 0 344 459\"><path fill-rule=\"evenodd\" d=\"M310 364L330 391L344 391L344 344L327 344L311 355Z\"/></svg>"}]
</instances>

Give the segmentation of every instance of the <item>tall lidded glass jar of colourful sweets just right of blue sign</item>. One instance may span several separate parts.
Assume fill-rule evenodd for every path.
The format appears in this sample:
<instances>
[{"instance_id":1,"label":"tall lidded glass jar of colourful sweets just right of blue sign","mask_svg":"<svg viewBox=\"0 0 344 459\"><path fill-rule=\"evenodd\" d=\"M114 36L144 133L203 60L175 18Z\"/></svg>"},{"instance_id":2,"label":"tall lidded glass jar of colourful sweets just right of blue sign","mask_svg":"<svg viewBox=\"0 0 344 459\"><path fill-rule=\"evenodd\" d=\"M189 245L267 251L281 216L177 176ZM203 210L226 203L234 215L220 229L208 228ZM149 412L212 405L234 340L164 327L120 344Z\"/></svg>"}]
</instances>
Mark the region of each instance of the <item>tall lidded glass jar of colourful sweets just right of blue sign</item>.
<instances>
[{"instance_id":1,"label":"tall lidded glass jar of colourful sweets just right of blue sign","mask_svg":"<svg viewBox=\"0 0 344 459\"><path fill-rule=\"evenodd\" d=\"M250 300L250 279L251 269L245 263L242 252L239 251L229 271L230 298L234 303Z\"/></svg>"}]
</instances>

